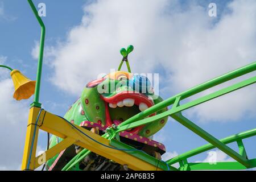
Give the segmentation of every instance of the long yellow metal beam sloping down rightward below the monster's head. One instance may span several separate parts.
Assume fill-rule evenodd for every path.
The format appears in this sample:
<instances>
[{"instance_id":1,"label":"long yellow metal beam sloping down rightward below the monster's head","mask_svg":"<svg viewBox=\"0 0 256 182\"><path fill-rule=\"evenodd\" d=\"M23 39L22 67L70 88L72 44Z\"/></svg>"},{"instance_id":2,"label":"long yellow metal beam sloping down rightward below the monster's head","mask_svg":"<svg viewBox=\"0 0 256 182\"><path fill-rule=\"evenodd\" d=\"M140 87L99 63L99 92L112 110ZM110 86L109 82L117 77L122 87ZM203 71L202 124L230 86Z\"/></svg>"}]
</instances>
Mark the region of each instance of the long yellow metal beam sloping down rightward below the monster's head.
<instances>
[{"instance_id":1,"label":"long yellow metal beam sloping down rightward below the monster's head","mask_svg":"<svg viewBox=\"0 0 256 182\"><path fill-rule=\"evenodd\" d=\"M83 133L88 135L89 137L97 140L98 142L105 144L99 144L94 142L92 139L89 139L84 134L81 134L75 128L73 128L69 123L64 121L63 118L57 117L54 114L46 113L43 121L43 125L40 126L40 129L47 131L48 133L52 133L57 137L65 138L73 138L77 142L75 144L87 148L88 150L95 152L98 155L104 156L105 158L114 160L119 164L127 164L129 168L133 170L148 170L148 171L155 171L156 167L150 163L145 162L139 158L136 158L133 155L127 154L124 151L115 150L109 144L109 140L102 138L100 135L94 134L89 130L86 130L82 127L76 126L81 130ZM106 147L108 146L108 147ZM159 171L162 169L158 168Z\"/></svg>"}]
</instances>

